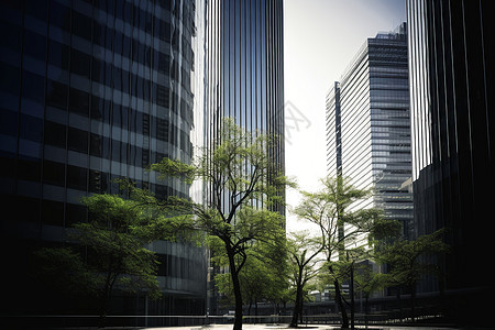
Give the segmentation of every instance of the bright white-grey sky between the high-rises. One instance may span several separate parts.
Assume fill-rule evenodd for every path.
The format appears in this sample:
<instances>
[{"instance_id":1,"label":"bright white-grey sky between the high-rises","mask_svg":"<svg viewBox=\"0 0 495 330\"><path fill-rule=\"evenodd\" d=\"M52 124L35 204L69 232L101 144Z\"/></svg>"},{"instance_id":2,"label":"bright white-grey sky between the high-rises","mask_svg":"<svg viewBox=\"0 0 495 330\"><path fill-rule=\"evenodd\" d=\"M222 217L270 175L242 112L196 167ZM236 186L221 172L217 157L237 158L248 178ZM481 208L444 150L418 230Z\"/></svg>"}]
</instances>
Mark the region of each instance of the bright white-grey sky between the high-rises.
<instances>
[{"instance_id":1,"label":"bright white-grey sky between the high-rises","mask_svg":"<svg viewBox=\"0 0 495 330\"><path fill-rule=\"evenodd\" d=\"M286 175L316 191L327 174L324 100L367 37L406 21L405 0L285 0L284 87ZM287 232L311 230L290 213Z\"/></svg>"}]
</instances>

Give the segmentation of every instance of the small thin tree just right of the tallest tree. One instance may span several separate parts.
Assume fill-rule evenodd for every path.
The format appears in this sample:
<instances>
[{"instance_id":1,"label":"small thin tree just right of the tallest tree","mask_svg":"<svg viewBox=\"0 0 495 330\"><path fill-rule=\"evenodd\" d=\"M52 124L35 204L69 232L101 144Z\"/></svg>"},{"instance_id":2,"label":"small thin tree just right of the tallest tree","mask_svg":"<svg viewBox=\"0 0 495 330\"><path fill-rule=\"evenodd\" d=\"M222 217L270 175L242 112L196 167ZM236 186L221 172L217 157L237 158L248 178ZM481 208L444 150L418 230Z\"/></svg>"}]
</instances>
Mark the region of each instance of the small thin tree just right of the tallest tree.
<instances>
[{"instance_id":1,"label":"small thin tree just right of the tallest tree","mask_svg":"<svg viewBox=\"0 0 495 330\"><path fill-rule=\"evenodd\" d=\"M304 290L308 280L317 275L316 257L321 252L321 242L308 238L307 232L293 233L288 241L288 255L292 262L293 280L296 287L296 299L294 304L290 328L297 328L299 317L302 317Z\"/></svg>"}]
</instances>

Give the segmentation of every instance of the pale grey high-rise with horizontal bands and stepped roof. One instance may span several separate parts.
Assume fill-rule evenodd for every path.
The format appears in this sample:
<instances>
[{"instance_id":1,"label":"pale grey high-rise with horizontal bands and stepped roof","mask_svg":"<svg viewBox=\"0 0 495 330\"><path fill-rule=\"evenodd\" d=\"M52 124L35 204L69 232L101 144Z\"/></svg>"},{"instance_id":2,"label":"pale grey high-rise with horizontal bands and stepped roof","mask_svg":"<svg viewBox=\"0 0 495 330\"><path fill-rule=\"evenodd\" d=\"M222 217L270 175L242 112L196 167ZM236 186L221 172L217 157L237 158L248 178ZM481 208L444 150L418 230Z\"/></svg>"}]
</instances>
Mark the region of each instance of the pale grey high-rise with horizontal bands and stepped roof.
<instances>
[{"instance_id":1,"label":"pale grey high-rise with horizontal bands and stepped roof","mask_svg":"<svg viewBox=\"0 0 495 330\"><path fill-rule=\"evenodd\" d=\"M328 172L373 196L351 206L376 207L409 237L413 194L406 23L367 38L327 96Z\"/></svg>"}]
</instances>

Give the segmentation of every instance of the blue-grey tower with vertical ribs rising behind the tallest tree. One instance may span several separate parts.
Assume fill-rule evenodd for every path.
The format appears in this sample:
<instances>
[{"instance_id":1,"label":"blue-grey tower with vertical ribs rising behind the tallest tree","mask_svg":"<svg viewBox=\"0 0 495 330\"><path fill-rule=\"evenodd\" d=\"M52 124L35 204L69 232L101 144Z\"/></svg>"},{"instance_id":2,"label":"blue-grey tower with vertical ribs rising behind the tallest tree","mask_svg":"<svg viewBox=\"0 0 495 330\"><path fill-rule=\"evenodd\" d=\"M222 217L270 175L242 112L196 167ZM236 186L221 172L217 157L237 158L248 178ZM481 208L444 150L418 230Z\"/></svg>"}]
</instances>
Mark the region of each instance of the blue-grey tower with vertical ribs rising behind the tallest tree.
<instances>
[{"instance_id":1,"label":"blue-grey tower with vertical ribs rising behind the tallest tree","mask_svg":"<svg viewBox=\"0 0 495 330\"><path fill-rule=\"evenodd\" d=\"M253 134L275 139L267 152L284 170L283 1L208 1L205 30L206 145L215 148L221 119L233 118ZM283 206L276 208L285 212ZM218 295L213 286L211 290L209 311L216 315Z\"/></svg>"}]
</instances>

